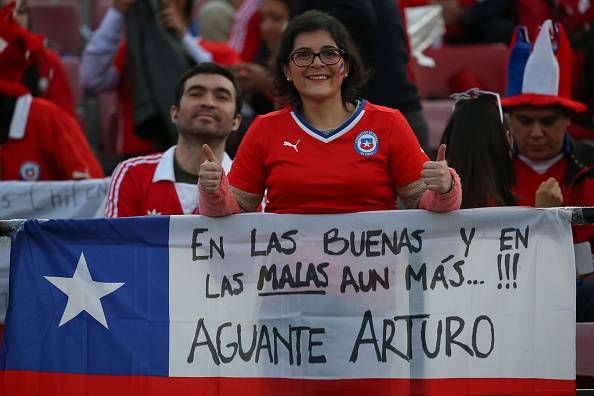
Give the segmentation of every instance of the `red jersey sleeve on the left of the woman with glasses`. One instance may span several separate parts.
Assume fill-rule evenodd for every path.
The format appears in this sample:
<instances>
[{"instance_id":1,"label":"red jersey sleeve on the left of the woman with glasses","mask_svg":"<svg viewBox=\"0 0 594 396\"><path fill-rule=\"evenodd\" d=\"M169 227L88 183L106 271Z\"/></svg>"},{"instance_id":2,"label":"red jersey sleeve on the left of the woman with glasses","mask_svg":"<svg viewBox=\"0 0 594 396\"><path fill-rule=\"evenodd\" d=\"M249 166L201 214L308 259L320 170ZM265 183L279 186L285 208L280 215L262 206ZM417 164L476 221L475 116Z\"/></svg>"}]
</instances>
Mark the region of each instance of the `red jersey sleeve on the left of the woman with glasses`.
<instances>
[{"instance_id":1,"label":"red jersey sleeve on the left of the woman with glasses","mask_svg":"<svg viewBox=\"0 0 594 396\"><path fill-rule=\"evenodd\" d=\"M242 191L264 194L266 189L266 168L262 145L265 133L261 118L256 117L241 140L237 155L229 172L229 184Z\"/></svg>"}]
</instances>

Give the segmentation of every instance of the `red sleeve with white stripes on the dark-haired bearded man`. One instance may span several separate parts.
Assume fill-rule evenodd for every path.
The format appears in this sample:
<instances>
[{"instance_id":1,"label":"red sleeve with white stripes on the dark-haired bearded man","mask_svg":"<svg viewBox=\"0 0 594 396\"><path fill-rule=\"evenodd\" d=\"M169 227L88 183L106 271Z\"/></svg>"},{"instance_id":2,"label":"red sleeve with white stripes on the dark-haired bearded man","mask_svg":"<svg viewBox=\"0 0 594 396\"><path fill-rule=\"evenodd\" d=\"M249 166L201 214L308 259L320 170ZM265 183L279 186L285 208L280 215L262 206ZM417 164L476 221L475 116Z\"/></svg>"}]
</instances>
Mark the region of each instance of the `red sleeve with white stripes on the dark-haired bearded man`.
<instances>
[{"instance_id":1,"label":"red sleeve with white stripes on the dark-haired bearded man","mask_svg":"<svg viewBox=\"0 0 594 396\"><path fill-rule=\"evenodd\" d=\"M133 169L130 167L132 160L121 162L111 175L105 217L138 216L137 205L143 198L138 196L138 189L134 184Z\"/></svg>"}]
</instances>

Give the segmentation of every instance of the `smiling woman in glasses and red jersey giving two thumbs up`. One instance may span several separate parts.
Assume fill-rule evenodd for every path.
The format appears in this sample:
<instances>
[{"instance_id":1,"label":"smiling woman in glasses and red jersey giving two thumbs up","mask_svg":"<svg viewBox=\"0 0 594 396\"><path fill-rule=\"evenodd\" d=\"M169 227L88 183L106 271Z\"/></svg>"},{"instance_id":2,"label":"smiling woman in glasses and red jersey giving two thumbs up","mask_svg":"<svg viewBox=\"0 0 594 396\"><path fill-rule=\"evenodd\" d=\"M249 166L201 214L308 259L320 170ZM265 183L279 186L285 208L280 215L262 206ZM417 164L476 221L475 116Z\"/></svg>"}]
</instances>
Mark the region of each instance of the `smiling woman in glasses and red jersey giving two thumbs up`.
<instances>
[{"instance_id":1,"label":"smiling woman in glasses and red jersey giving two thumbs up","mask_svg":"<svg viewBox=\"0 0 594 396\"><path fill-rule=\"evenodd\" d=\"M256 118L229 180L204 146L200 212L253 212L267 190L272 213L348 213L396 208L450 211L460 181L445 146L429 161L399 111L359 100L364 68L334 17L308 11L283 33L274 84L291 107Z\"/></svg>"}]
</instances>

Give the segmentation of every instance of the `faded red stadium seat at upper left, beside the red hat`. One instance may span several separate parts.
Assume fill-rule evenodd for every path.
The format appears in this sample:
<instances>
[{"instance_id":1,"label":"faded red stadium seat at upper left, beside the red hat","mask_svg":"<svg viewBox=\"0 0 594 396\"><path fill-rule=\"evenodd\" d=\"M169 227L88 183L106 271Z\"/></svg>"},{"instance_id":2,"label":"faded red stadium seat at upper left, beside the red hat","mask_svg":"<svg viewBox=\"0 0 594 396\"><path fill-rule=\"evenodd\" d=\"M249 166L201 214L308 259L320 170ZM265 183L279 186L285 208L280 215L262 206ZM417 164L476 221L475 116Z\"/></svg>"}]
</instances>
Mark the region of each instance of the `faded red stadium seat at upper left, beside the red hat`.
<instances>
[{"instance_id":1,"label":"faded red stadium seat at upper left, beside the red hat","mask_svg":"<svg viewBox=\"0 0 594 396\"><path fill-rule=\"evenodd\" d=\"M55 48L60 54L80 54L80 4L30 3L29 9L31 31L47 37L50 47Z\"/></svg>"}]
</instances>

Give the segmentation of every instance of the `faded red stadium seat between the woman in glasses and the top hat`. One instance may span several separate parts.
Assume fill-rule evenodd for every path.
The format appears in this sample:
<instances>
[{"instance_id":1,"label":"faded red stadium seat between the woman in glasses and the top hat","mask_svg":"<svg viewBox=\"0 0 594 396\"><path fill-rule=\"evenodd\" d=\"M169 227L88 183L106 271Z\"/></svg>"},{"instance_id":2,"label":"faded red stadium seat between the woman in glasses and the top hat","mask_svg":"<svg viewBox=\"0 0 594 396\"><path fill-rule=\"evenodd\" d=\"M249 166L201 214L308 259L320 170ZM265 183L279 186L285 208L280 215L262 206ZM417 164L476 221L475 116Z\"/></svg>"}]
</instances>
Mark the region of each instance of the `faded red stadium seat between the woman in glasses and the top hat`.
<instances>
[{"instance_id":1,"label":"faded red stadium seat between the woman in glasses and the top hat","mask_svg":"<svg viewBox=\"0 0 594 396\"><path fill-rule=\"evenodd\" d=\"M474 75L481 89L499 93L505 91L505 45L443 45L428 48L424 54L435 60L435 67L424 67L412 62L413 73L423 99L448 98L452 93L451 80L462 74Z\"/></svg>"}]
</instances>

